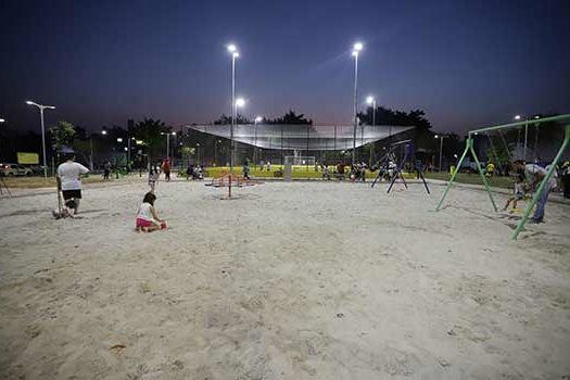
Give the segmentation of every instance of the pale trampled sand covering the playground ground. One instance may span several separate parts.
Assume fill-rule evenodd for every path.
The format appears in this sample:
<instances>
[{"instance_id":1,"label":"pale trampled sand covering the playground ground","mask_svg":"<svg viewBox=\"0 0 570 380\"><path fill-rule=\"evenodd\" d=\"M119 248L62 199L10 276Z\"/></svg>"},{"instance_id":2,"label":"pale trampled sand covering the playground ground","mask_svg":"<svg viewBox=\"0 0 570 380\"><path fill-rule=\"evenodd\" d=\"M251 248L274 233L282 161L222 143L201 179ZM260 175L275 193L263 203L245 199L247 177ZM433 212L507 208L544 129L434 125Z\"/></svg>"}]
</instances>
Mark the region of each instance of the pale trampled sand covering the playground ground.
<instances>
[{"instance_id":1,"label":"pale trampled sand covering the playground ground","mask_svg":"<svg viewBox=\"0 0 570 380\"><path fill-rule=\"evenodd\" d=\"M434 213L443 187L401 189L161 182L148 235L142 182L86 189L75 220L2 199L0 376L568 379L568 206L514 242L484 192Z\"/></svg>"}]
</instances>

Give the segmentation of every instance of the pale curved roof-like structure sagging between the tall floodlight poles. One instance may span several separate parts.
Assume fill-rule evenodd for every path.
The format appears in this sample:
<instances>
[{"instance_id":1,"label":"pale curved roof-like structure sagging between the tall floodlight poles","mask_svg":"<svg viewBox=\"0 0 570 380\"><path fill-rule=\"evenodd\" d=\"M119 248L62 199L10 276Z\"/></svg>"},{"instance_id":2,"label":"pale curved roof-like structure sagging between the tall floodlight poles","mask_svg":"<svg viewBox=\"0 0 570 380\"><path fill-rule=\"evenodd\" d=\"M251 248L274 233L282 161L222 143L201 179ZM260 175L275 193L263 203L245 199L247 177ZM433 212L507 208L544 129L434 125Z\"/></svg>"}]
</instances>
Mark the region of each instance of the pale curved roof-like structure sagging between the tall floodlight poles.
<instances>
[{"instance_id":1,"label":"pale curved roof-like structure sagging between the tall floodlight poles","mask_svg":"<svg viewBox=\"0 0 570 380\"><path fill-rule=\"evenodd\" d=\"M192 125L193 130L230 138L230 125ZM358 126L356 148L402 134L414 127ZM303 124L239 124L233 140L262 149L346 150L353 148L354 127Z\"/></svg>"}]
</instances>

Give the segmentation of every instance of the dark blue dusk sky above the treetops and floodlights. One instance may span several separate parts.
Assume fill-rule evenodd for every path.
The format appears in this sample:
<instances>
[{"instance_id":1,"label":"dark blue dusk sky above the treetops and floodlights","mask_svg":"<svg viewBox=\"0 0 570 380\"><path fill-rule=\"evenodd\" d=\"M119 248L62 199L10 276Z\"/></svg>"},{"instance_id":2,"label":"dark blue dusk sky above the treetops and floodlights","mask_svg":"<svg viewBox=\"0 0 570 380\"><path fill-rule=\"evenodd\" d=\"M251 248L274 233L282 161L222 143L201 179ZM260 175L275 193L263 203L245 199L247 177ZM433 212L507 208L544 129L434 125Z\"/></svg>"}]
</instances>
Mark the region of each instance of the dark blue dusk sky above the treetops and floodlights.
<instances>
[{"instance_id":1,"label":"dark blue dusk sky above the treetops and floodlights","mask_svg":"<svg viewBox=\"0 0 570 380\"><path fill-rule=\"evenodd\" d=\"M127 118L178 128L230 112L228 42L248 116L293 109L350 125L359 100L421 109L434 130L570 112L570 1L2 1L0 117L36 109L98 130Z\"/></svg>"}]
</instances>

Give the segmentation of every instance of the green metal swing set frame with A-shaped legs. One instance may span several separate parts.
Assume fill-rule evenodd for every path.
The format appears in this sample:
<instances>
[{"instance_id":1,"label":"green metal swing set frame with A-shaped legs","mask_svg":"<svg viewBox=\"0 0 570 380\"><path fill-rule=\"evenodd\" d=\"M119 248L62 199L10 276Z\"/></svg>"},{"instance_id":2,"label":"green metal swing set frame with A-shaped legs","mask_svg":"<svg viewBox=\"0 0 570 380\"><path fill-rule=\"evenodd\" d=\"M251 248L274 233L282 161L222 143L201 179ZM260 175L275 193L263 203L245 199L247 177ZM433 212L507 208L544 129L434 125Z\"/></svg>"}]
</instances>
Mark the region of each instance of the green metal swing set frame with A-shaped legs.
<instances>
[{"instance_id":1,"label":"green metal swing set frame with A-shaped legs","mask_svg":"<svg viewBox=\"0 0 570 380\"><path fill-rule=\"evenodd\" d=\"M565 126L565 139L562 141L562 144L560 145L560 149L558 150L558 153L556 154L555 159L553 160L553 162L550 164L550 167L549 167L549 169L546 173L546 176L544 177L544 179L542 180L541 185L539 186L539 189L534 192L534 197L532 197L532 201L530 202L530 204L524 210L524 213L522 214L522 218L520 219L519 224L517 225L517 228L515 229L515 231L511 235L511 239L516 240L517 237L519 236L520 231L522 230L522 228L524 228L524 225L527 224L527 219L529 218L529 215L530 215L532 208L534 207L534 205L539 201L539 198L540 198L544 187L546 186L546 183L553 177L554 170L556 170L556 165L560 161L560 159L562 156L562 153L566 151L566 149L570 144L570 114L553 116L553 117L545 117L545 118L537 118L537 119L532 119L532 121L523 121L523 122L518 122L518 123L510 123L510 124L504 124L504 125L497 125L497 126L492 126L492 127L485 127L485 128L470 130L468 136L467 136L467 141L466 141L466 147L465 147L464 154L461 154L461 157L459 159L459 162L457 163L457 166L456 166L457 169L454 170L454 173L452 175L452 178L447 182L447 187L445 188L445 191L443 192L442 199L440 200L440 203L438 204L438 207L435 207L435 211L438 212L438 211L441 210L441 207L443 205L443 201L445 200L445 197L447 195L447 192L449 191L449 189L452 187L452 183L455 180L455 177L457 176L457 173L459 172L459 168L461 167L461 164L463 164L467 153L471 152L471 155L473 156L474 162L477 164L477 168L479 170L479 174L481 175L481 179L483 180L483 186L485 187L485 190L486 190L486 192L489 194L489 199L491 200L491 204L493 205L493 208L496 212L497 211L497 205L495 203L495 200L493 199L493 194L491 192L491 188L489 187L489 182L486 180L485 174L483 173L483 168L481 167L481 163L479 162L479 157L477 156L477 153L476 153L476 151L473 149L473 136L478 135L480 132L486 132L486 131L492 131L492 130L502 130L502 129L511 128L511 127L528 126L531 123L534 124L536 127L540 127L541 124L548 123L548 122L563 122L563 123L568 123Z\"/></svg>"}]
</instances>

